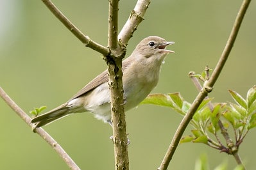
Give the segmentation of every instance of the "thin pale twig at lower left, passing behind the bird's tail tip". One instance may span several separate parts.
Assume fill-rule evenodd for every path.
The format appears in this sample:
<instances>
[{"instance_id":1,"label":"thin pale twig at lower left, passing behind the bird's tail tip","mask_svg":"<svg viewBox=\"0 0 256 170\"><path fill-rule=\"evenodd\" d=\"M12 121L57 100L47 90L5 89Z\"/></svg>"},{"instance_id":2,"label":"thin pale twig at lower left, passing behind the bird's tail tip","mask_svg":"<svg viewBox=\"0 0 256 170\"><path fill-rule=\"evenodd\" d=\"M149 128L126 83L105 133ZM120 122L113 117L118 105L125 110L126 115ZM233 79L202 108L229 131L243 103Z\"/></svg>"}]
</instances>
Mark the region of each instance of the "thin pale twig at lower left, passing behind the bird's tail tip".
<instances>
[{"instance_id":1,"label":"thin pale twig at lower left, passing behind the bird's tail tip","mask_svg":"<svg viewBox=\"0 0 256 170\"><path fill-rule=\"evenodd\" d=\"M10 98L5 91L0 87L0 96L3 98L4 102L8 104L13 111L15 111L21 118L26 122L27 125L29 125L32 128L32 125L30 124L31 118L26 114L24 111L22 111L21 107L19 107L15 102L13 102L12 98ZM65 152L65 150L58 144L51 135L47 134L46 131L42 128L37 128L35 130L40 137L42 137L51 147L54 148L54 150L62 157L62 159L65 161L67 166L69 166L71 169L80 169L76 163L72 160L69 155Z\"/></svg>"}]
</instances>

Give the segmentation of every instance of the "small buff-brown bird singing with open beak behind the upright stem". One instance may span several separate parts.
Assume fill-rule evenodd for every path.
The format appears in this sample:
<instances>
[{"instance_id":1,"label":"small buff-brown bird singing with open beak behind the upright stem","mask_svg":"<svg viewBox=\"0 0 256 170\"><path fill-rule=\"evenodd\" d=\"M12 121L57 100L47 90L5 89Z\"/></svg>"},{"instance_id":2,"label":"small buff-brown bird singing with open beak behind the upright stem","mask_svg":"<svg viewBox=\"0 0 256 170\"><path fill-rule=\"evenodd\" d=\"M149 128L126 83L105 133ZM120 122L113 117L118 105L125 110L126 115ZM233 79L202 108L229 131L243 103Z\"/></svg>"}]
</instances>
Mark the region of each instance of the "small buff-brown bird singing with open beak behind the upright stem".
<instances>
[{"instance_id":1,"label":"small buff-brown bird singing with open beak behind the upright stem","mask_svg":"<svg viewBox=\"0 0 256 170\"><path fill-rule=\"evenodd\" d=\"M159 36L148 36L123 60L124 111L137 107L157 86L164 59L174 52L166 47L174 43ZM32 118L31 123L35 129L76 112L91 112L98 120L112 125L107 70L92 79L65 104Z\"/></svg>"}]
</instances>

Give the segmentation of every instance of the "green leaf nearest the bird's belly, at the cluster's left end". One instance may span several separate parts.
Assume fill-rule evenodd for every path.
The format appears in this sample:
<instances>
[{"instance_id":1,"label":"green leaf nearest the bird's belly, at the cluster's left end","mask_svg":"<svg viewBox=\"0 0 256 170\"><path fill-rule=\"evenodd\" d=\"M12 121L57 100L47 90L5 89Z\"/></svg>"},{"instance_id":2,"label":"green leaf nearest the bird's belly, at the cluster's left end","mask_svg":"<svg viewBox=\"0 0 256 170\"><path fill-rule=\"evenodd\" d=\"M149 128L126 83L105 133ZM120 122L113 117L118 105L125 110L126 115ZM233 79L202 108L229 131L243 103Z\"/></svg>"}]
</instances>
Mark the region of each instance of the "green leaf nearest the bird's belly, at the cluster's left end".
<instances>
[{"instance_id":1,"label":"green leaf nearest the bird's belly, at the cluster's left end","mask_svg":"<svg viewBox=\"0 0 256 170\"><path fill-rule=\"evenodd\" d=\"M148 95L148 97L146 97L141 102L141 104L154 104L154 105L174 108L173 103L168 95L158 94L158 93Z\"/></svg>"}]
</instances>

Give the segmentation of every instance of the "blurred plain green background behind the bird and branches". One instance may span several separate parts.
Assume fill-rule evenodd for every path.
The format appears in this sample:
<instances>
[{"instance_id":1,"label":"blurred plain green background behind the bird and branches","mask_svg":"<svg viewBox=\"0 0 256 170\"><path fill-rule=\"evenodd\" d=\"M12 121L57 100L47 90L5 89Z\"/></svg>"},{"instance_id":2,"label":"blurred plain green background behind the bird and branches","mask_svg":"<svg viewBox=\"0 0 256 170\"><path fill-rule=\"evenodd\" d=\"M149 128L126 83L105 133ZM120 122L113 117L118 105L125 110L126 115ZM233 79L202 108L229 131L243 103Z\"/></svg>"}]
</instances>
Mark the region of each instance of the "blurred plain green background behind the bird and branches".
<instances>
[{"instance_id":1,"label":"blurred plain green background behind the bird and branches","mask_svg":"<svg viewBox=\"0 0 256 170\"><path fill-rule=\"evenodd\" d=\"M92 40L107 45L108 1L55 1L56 6ZM153 93L179 91L192 102L197 95L187 77L214 68L242 1L152 1L145 20L128 43L127 56L149 35L175 45L162 66ZM120 1L120 29L136 1ZM228 89L245 96L255 84L256 10L252 1L214 91L214 102L232 101ZM24 111L47 105L47 111L66 102L107 66L101 55L83 46L41 1L0 1L0 86ZM0 169L69 169L37 134L0 100ZM157 169L182 117L168 108L141 105L126 114L130 169ZM73 114L45 127L81 169L114 169L109 125L92 114ZM185 134L189 134L187 129ZM248 169L256 166L255 130L239 153ZM194 169L201 153L210 169L235 160L203 144L181 144L169 169Z\"/></svg>"}]
</instances>

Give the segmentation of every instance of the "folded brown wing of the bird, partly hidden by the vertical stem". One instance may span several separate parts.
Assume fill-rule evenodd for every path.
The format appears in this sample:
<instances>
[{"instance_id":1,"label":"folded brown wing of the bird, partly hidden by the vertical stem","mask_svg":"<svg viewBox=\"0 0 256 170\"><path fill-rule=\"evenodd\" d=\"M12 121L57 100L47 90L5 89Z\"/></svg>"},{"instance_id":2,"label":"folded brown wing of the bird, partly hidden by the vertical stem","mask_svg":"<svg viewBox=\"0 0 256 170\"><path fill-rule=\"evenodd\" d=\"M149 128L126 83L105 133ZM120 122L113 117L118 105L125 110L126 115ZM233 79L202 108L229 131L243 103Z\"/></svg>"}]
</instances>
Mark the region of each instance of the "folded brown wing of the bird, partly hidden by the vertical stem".
<instances>
[{"instance_id":1,"label":"folded brown wing of the bird, partly hidden by the vertical stem","mask_svg":"<svg viewBox=\"0 0 256 170\"><path fill-rule=\"evenodd\" d=\"M124 70L130 65L130 62L127 62L128 60L125 59L123 61L122 70ZM83 87L76 95L74 95L70 100L73 100L74 98L81 97L82 95L85 95L85 93L91 91L92 89L97 88L99 85L104 84L105 82L108 82L108 71L105 70L101 74L99 74L97 77L95 77L92 81L90 81L85 87ZM70 101L69 100L69 101Z\"/></svg>"}]
</instances>

